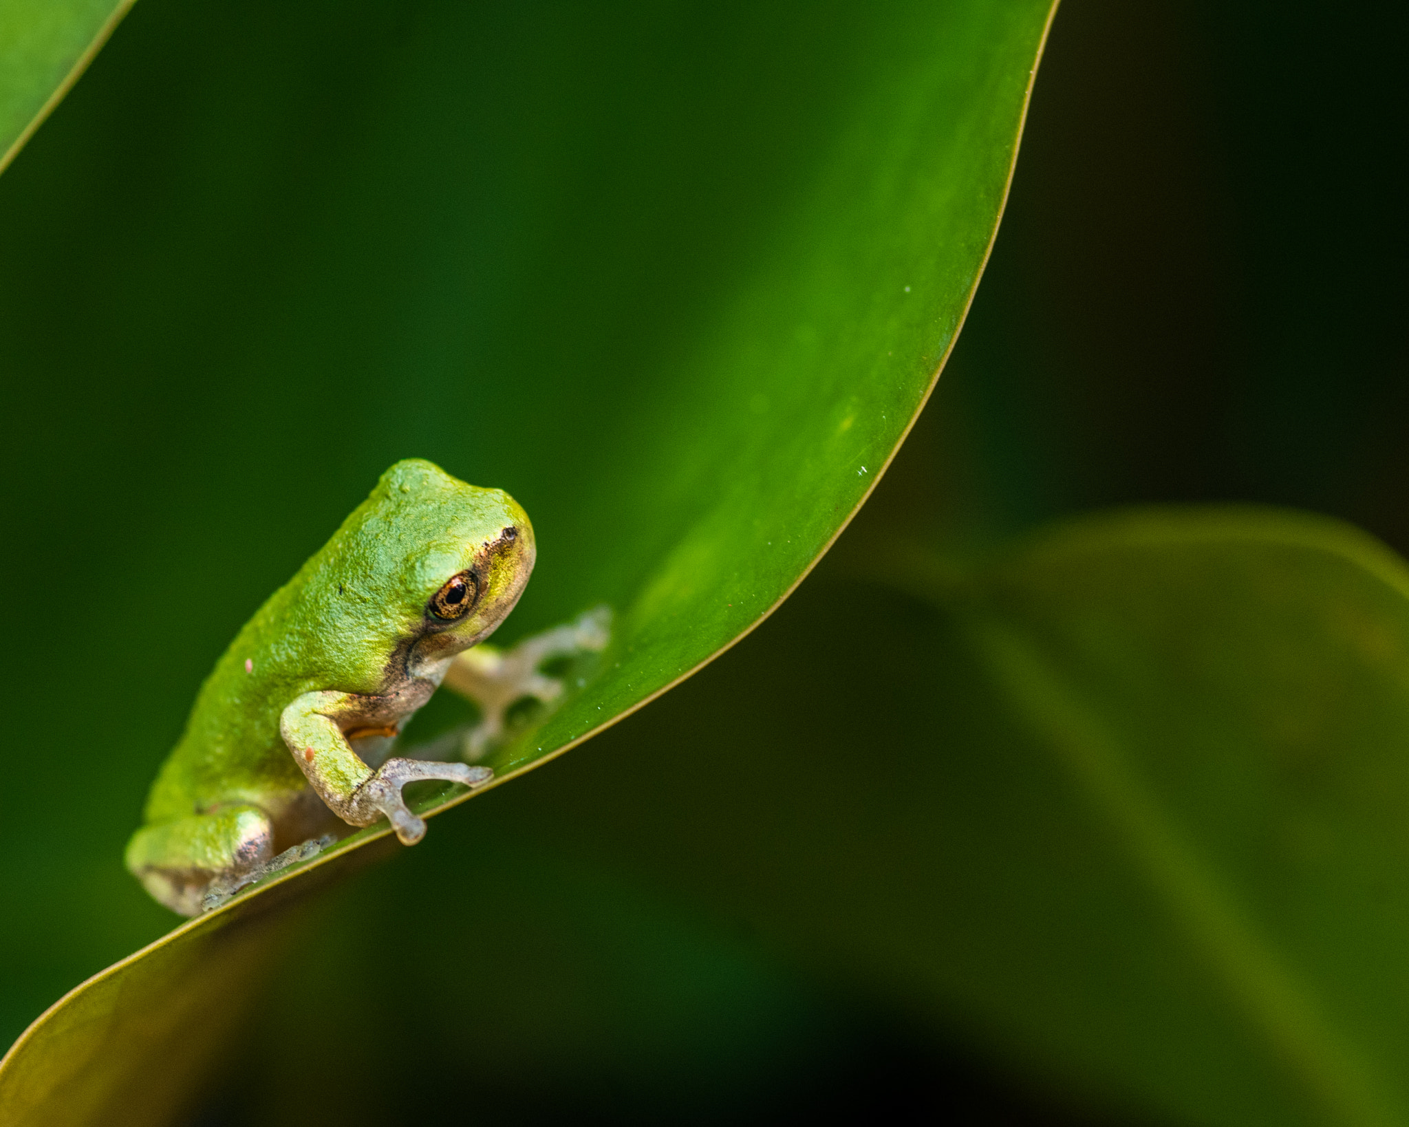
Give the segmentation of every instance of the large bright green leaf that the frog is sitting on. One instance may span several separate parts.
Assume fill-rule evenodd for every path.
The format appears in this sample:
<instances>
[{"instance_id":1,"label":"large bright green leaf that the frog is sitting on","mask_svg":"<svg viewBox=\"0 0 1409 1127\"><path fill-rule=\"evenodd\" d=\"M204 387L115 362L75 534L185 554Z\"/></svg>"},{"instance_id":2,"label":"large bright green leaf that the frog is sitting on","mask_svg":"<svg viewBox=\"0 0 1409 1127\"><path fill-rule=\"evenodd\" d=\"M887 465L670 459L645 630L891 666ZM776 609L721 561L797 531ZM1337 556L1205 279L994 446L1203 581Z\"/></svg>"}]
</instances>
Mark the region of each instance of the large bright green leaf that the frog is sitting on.
<instances>
[{"instance_id":1,"label":"large bright green leaf that the frog is sitting on","mask_svg":"<svg viewBox=\"0 0 1409 1127\"><path fill-rule=\"evenodd\" d=\"M4 456L39 485L8 493L35 547L4 562L25 638L6 675L30 686L10 737L45 748L35 793L63 796L0 830L3 895L34 906L0 937L11 1028L169 926L118 866L141 793L240 621L390 461L527 507L540 565L506 641L616 610L595 679L499 754L500 782L768 614L952 345L1048 18L1045 0L138 6L0 180ZM104 628L76 640L55 609L93 582ZM72 669L75 647L101 655L79 662L82 723L75 680L30 672ZM106 1068L75 1106L144 1069L185 1083L162 1055L178 979L137 968L262 899L51 1010L0 1069L0 1110L23 1092L61 1114L32 1103L69 1076L41 1045L90 992L151 1020L90 1044Z\"/></svg>"}]
</instances>

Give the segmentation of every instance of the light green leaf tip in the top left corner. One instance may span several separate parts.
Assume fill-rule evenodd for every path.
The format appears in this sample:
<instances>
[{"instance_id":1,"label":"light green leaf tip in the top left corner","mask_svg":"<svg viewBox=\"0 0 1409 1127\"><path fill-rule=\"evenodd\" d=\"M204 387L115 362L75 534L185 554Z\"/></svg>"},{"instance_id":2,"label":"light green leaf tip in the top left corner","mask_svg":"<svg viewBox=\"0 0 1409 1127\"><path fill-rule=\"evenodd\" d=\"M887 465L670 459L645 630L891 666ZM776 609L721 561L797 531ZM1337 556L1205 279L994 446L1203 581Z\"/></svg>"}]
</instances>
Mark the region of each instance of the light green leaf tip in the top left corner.
<instances>
[{"instance_id":1,"label":"light green leaf tip in the top left corner","mask_svg":"<svg viewBox=\"0 0 1409 1127\"><path fill-rule=\"evenodd\" d=\"M107 42L132 0L0 3L0 172Z\"/></svg>"}]
</instances>

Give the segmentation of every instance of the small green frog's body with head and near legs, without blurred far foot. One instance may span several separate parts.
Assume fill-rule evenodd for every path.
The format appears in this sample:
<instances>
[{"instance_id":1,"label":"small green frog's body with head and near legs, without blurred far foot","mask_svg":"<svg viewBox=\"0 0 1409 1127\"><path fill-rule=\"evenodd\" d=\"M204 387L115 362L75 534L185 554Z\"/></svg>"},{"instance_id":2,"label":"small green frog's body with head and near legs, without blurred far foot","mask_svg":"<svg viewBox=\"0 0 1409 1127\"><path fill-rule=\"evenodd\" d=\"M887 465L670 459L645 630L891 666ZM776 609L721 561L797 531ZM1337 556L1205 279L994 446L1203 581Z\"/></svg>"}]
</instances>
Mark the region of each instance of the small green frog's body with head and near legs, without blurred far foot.
<instances>
[{"instance_id":1,"label":"small green frog's body with head and near legs, without blurred far foot","mask_svg":"<svg viewBox=\"0 0 1409 1127\"><path fill-rule=\"evenodd\" d=\"M128 844L128 868L158 900L194 914L213 880L268 864L330 810L352 826L385 814L402 841L418 841L426 826L402 803L402 785L473 786L490 772L413 759L373 771L348 741L393 735L455 655L513 610L533 565L533 525L507 493L397 462L201 686ZM475 593L440 609L454 614L472 600L469 610L438 616L437 593L466 575ZM469 580L457 583L451 600L469 592Z\"/></svg>"}]
</instances>

